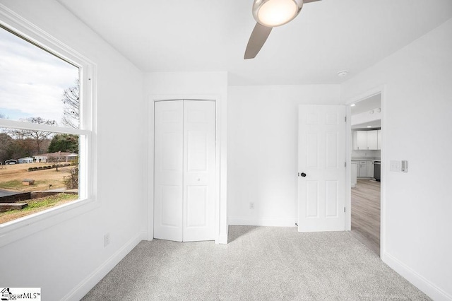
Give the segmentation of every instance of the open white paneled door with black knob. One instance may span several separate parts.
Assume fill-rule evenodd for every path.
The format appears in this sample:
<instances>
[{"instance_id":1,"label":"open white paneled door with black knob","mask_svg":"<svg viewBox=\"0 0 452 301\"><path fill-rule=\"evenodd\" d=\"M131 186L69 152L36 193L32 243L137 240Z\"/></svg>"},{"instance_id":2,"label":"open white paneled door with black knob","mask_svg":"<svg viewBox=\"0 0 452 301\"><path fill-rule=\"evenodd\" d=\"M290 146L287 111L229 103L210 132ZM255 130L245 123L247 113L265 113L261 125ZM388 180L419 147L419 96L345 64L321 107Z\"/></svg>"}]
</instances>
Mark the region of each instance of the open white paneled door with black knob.
<instances>
[{"instance_id":1,"label":"open white paneled door with black knob","mask_svg":"<svg viewBox=\"0 0 452 301\"><path fill-rule=\"evenodd\" d=\"M345 230L345 106L300 105L298 230Z\"/></svg>"}]
</instances>

